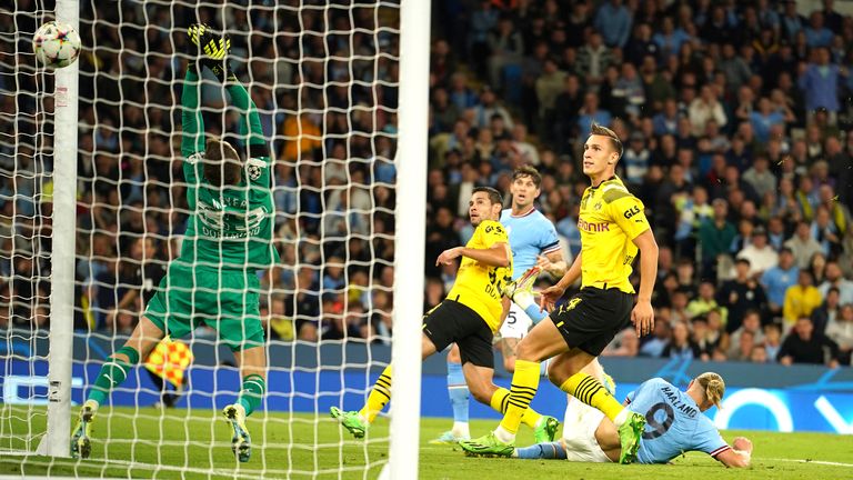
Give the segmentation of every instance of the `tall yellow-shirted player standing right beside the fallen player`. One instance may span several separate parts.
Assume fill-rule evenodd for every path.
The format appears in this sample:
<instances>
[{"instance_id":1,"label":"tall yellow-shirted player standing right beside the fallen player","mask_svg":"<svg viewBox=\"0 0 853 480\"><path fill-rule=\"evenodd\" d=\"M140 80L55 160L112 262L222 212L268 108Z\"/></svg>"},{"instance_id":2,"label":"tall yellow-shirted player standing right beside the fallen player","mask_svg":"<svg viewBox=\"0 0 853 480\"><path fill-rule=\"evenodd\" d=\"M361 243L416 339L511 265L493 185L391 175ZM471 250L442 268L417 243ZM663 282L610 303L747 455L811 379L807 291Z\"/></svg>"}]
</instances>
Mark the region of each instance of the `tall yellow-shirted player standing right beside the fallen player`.
<instances>
[{"instance_id":1,"label":"tall yellow-shirted player standing right beside the fallen player","mask_svg":"<svg viewBox=\"0 0 853 480\"><path fill-rule=\"evenodd\" d=\"M582 372L629 322L633 321L638 336L654 327L651 298L658 274L658 244L643 203L615 176L621 157L619 137L593 123L583 153L583 173L592 184L583 193L578 220L581 253L565 276L541 293L541 303L551 311L551 321L538 323L519 343L510 408L503 421L486 436L460 441L466 453L512 453L521 416L539 388L540 362L553 358L549 379L608 416L619 428L620 461L630 463L635 459L645 419L626 410L599 380ZM629 277L638 251L642 253L640 293L634 304ZM554 311L556 300L579 276L581 291Z\"/></svg>"}]
</instances>

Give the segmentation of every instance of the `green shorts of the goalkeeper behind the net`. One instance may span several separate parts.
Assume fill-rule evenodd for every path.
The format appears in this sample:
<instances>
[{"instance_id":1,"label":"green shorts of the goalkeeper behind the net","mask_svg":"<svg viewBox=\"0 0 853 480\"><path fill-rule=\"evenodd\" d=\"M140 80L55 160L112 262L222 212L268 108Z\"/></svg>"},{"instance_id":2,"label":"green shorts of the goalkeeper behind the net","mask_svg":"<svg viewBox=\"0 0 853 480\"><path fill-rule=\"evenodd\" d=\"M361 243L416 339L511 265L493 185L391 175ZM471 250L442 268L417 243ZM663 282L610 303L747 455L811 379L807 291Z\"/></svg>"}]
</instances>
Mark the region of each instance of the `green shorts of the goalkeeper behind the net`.
<instances>
[{"instance_id":1,"label":"green shorts of the goalkeeper behind the net","mask_svg":"<svg viewBox=\"0 0 853 480\"><path fill-rule=\"evenodd\" d=\"M207 324L232 351L245 350L263 346L260 290L253 271L172 262L144 316L172 338Z\"/></svg>"}]
</instances>

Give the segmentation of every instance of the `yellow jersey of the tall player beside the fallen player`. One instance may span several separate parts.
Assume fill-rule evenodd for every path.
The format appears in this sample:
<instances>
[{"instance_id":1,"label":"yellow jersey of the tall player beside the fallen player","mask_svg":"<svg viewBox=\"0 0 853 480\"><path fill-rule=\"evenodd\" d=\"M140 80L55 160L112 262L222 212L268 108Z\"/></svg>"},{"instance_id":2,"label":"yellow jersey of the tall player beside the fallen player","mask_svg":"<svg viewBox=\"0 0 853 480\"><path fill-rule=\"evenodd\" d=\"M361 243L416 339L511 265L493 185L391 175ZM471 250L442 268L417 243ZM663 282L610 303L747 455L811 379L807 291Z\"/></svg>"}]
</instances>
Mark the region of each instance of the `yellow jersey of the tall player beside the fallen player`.
<instances>
[{"instance_id":1,"label":"yellow jersey of the tall player beside the fallen player","mask_svg":"<svg viewBox=\"0 0 853 480\"><path fill-rule=\"evenodd\" d=\"M650 228L643 202L628 191L619 177L586 188L578 219L582 287L633 293L629 277L638 248L632 240Z\"/></svg>"}]
</instances>

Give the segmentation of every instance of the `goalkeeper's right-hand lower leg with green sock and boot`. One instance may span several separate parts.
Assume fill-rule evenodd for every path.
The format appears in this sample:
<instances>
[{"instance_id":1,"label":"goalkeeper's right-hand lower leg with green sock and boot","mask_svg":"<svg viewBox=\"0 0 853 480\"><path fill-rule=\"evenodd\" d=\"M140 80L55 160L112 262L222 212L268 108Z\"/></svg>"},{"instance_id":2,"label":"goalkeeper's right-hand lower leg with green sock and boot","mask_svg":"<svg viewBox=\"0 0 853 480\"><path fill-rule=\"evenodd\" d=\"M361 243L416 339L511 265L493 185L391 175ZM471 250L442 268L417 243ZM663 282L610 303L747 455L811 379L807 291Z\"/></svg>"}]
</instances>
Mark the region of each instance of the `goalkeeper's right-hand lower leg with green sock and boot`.
<instances>
[{"instance_id":1,"label":"goalkeeper's right-hand lower leg with green sock and boot","mask_svg":"<svg viewBox=\"0 0 853 480\"><path fill-rule=\"evenodd\" d=\"M241 462L247 462L252 456L252 439L245 418L261 404L267 392L267 351L263 347L235 350L234 359L240 367L242 388L237 403L227 406L222 414L234 431L231 449Z\"/></svg>"}]
</instances>

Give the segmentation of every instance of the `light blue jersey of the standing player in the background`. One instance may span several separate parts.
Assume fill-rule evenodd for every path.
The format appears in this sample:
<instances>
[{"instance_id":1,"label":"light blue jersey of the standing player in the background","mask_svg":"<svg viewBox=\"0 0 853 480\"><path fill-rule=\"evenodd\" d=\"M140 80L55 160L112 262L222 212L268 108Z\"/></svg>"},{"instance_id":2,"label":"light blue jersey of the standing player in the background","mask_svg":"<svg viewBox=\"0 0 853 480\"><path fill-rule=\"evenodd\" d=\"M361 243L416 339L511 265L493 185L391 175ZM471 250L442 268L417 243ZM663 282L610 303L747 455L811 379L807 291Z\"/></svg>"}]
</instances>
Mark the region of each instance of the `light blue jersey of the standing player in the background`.
<instances>
[{"instance_id":1,"label":"light blue jersey of the standing player in the background","mask_svg":"<svg viewBox=\"0 0 853 480\"><path fill-rule=\"evenodd\" d=\"M512 279L536 264L536 256L560 250L560 240L551 220L536 209L513 217L511 209L501 212L501 223L506 227L512 249Z\"/></svg>"}]
</instances>

